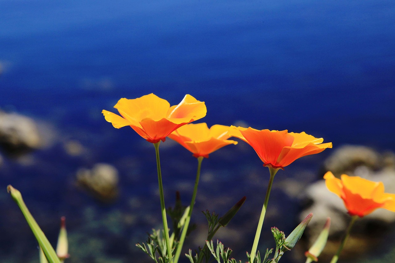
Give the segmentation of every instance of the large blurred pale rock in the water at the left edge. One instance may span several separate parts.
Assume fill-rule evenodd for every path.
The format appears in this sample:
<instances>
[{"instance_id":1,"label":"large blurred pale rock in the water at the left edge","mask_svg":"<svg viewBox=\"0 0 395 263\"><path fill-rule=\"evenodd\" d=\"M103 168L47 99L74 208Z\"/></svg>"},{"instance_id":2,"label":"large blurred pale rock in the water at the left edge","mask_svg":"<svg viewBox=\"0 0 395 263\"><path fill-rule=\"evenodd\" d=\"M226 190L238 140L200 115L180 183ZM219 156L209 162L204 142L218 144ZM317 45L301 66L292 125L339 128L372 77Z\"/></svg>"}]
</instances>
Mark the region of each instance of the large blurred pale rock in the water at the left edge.
<instances>
[{"instance_id":1,"label":"large blurred pale rock in the water at the left edge","mask_svg":"<svg viewBox=\"0 0 395 263\"><path fill-rule=\"evenodd\" d=\"M0 111L0 144L10 154L21 154L42 146L36 123L23 115Z\"/></svg>"}]
</instances>

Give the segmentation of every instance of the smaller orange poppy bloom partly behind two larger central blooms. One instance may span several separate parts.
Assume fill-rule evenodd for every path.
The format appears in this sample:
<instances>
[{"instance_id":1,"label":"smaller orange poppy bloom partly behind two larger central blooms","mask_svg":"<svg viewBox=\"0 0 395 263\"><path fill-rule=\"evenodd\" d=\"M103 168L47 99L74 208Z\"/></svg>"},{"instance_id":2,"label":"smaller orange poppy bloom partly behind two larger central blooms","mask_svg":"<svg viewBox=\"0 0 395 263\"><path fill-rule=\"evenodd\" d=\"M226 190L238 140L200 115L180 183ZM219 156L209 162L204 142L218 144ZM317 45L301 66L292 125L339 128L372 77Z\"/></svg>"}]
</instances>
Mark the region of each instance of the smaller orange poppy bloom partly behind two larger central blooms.
<instances>
[{"instance_id":1,"label":"smaller orange poppy bloom partly behind two larger central blooms","mask_svg":"<svg viewBox=\"0 0 395 263\"><path fill-rule=\"evenodd\" d=\"M173 131L169 138L184 146L198 158L209 158L209 154L237 141L227 140L229 126L213 125L209 129L206 123L186 124Z\"/></svg>"}]
</instances>

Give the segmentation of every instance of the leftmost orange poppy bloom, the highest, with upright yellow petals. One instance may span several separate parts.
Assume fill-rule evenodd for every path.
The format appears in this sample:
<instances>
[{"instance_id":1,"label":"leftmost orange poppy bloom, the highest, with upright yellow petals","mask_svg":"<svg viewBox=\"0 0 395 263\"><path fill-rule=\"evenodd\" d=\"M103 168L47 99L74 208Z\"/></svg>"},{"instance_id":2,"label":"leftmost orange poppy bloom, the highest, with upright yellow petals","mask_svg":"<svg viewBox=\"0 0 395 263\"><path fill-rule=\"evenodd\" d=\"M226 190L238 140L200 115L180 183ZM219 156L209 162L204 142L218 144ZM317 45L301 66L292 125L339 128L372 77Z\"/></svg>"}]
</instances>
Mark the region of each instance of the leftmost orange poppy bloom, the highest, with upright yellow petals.
<instances>
[{"instance_id":1,"label":"leftmost orange poppy bloom, the highest, with upright yellow petals","mask_svg":"<svg viewBox=\"0 0 395 263\"><path fill-rule=\"evenodd\" d=\"M122 98L114 106L120 115L103 110L107 122L115 128L130 126L150 143L166 140L166 136L184 124L206 116L206 105L189 94L178 104L170 107L167 100L154 94L128 100Z\"/></svg>"}]
</instances>

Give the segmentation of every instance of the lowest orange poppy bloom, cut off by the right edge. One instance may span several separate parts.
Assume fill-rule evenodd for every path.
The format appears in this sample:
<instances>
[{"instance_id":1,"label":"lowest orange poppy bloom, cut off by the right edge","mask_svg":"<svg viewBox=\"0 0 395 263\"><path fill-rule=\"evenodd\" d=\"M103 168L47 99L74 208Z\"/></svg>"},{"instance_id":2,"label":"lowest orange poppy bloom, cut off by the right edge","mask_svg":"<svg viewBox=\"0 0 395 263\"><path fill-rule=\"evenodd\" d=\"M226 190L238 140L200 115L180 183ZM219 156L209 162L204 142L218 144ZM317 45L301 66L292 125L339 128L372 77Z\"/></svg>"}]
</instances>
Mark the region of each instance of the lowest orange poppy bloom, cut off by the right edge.
<instances>
[{"instance_id":1,"label":"lowest orange poppy bloom, cut off by the right edge","mask_svg":"<svg viewBox=\"0 0 395 263\"><path fill-rule=\"evenodd\" d=\"M343 199L348 214L363 217L377 208L395 212L395 194L384 193L382 182L373 182L359 176L341 175L341 180L333 173L324 175L326 187Z\"/></svg>"}]
</instances>

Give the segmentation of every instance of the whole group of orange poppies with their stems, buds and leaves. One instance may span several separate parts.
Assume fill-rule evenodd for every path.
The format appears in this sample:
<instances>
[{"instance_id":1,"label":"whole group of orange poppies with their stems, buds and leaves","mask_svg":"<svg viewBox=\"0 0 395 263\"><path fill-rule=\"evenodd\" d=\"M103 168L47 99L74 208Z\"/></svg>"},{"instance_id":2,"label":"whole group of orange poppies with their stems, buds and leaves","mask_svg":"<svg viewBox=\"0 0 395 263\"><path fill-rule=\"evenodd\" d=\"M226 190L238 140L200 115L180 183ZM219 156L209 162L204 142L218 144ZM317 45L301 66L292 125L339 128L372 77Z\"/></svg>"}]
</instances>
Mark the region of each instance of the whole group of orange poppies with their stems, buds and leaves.
<instances>
[{"instance_id":1,"label":"whole group of orange poppies with their stems, buds and leaves","mask_svg":"<svg viewBox=\"0 0 395 263\"><path fill-rule=\"evenodd\" d=\"M247 253L249 263L277 263L284 251L293 248L301 237L306 225L310 221L312 214L309 214L287 238L285 238L282 231L279 231L275 227L272 228L272 233L276 241L275 257L273 257L273 259L268 259L268 254L271 253L268 252L268 250L263 261L260 258L259 251L257 252L258 241L274 177L277 171L284 169L284 167L290 165L296 159L306 155L322 152L326 148L332 148L332 143L323 143L324 139L315 138L305 132L293 133L288 132L287 130L256 130L250 127L243 128L218 124L208 128L205 123L190 124L190 122L203 118L207 112L205 103L196 100L190 95L186 95L178 105L171 107L169 102L155 96L154 94L148 94L133 100L122 98L114 107L118 109L121 116L103 110L102 113L105 116L105 119L108 122L111 122L115 128L121 128L124 126L132 127L132 129L141 137L152 143L156 150L163 237L161 236L160 231L154 231L147 242L148 249L144 243L143 245L137 244L137 246L149 254L156 263L177 263L179 261L196 199L201 162L204 158L208 158L209 154L212 152L226 145L237 144L237 141L229 140L230 137L239 138L254 148L263 162L263 166L268 167L270 172L270 179L256 235L252 244L251 253ZM177 141L187 150L192 152L193 156L198 160L198 171L190 206L182 211L182 217L179 218L177 224L173 225L174 227L178 227L178 229L177 234L173 231L171 237L167 227L167 212L164 203L162 173L159 159L159 145L161 142L166 141L166 137ZM336 263L355 220L370 214L378 208L395 212L395 194L385 193L382 182L372 182L360 177L341 175L341 178L339 179L328 171L325 173L324 179L328 190L335 193L343 200L344 205L348 210L348 214L352 216L347 232L340 242L339 249L331 260L331 263ZM11 194L11 197L18 204L26 218L26 221L32 229L32 232L38 240L41 248L40 263L64 262L68 257L68 241L64 218L62 219L62 227L55 252L33 216L28 211L21 193L11 185L9 185L7 189ZM224 263L237 263L235 259L229 259L230 252L229 250L224 250L224 246L222 244L217 243L217 248L214 250L211 239L219 227L224 227L229 223L244 201L245 197L221 218L218 218L218 215L211 215L207 212L206 217L209 221L210 229L209 235L207 236L206 245L200 250L199 255L196 254L196 256L192 256L191 250L189 255L186 254L192 263L201 263L203 257L205 257L207 262L209 261L211 254L218 263L221 262L221 259ZM312 247L306 252L306 263L318 260L317 257L320 255L326 244L329 232L329 223L330 220L327 220L324 230L321 232ZM156 240L156 243L153 242L154 239ZM163 239L164 241L162 241ZM159 254L158 257L157 254ZM238 262L241 263L241 261Z\"/></svg>"}]
</instances>

